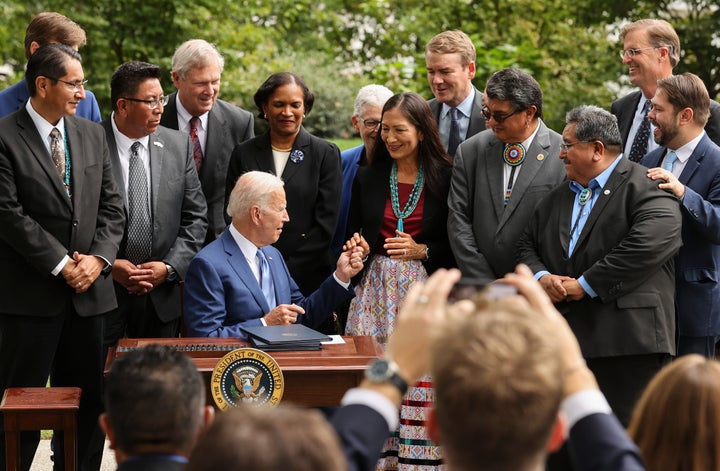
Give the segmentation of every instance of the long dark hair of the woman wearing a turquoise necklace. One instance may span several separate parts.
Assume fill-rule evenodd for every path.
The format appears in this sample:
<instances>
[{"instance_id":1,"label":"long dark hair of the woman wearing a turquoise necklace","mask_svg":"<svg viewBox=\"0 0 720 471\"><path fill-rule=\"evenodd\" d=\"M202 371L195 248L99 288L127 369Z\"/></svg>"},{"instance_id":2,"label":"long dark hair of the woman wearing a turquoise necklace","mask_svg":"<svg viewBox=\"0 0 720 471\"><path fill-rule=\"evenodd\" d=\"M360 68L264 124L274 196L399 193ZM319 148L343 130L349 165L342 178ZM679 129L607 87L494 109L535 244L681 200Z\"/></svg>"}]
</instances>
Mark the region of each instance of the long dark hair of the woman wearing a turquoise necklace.
<instances>
[{"instance_id":1,"label":"long dark hair of the woman wearing a turquoise necklace","mask_svg":"<svg viewBox=\"0 0 720 471\"><path fill-rule=\"evenodd\" d=\"M449 179L443 175L447 168L452 167L450 156L440 139L437 121L423 97L413 92L393 95L383 106L382 115L392 109L399 109L410 123L422 133L425 139L418 146L418 159L422 163L425 174L425 185L438 198L446 198ZM373 148L372 165L387 165L392 157L385 147L382 133L378 133Z\"/></svg>"}]
</instances>

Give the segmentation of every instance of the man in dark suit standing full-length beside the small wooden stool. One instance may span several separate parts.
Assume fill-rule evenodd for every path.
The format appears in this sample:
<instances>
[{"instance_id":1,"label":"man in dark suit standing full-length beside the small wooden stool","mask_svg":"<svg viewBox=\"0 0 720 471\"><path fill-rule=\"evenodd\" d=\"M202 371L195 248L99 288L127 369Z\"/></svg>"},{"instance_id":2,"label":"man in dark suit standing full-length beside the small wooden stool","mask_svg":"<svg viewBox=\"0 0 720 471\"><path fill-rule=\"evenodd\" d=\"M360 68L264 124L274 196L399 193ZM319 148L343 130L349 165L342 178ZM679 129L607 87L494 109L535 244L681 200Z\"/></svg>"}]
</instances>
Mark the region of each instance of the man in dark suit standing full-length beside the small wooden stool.
<instances>
[{"instance_id":1,"label":"man in dark suit standing full-length beside the small wooden stool","mask_svg":"<svg viewBox=\"0 0 720 471\"><path fill-rule=\"evenodd\" d=\"M97 470L107 277L125 222L101 126L75 116L80 55L49 44L28 61L28 103L0 120L0 390L79 386L79 469ZM1 427L1 426L0 426ZM0 428L0 430L4 430ZM22 440L28 469L39 434ZM62 447L55 447L56 463ZM0 469L5 434L0 433Z\"/></svg>"}]
</instances>

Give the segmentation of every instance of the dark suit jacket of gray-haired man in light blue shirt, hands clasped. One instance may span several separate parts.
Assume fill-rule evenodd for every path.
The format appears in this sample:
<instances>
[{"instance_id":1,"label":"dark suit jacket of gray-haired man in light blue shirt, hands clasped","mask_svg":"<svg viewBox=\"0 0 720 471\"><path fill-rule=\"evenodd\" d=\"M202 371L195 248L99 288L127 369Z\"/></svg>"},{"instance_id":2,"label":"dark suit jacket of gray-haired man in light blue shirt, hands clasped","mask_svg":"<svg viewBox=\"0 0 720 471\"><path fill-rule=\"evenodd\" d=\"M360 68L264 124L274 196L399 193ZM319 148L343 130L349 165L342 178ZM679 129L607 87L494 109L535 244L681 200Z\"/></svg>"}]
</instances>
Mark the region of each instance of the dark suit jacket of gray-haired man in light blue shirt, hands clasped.
<instances>
[{"instance_id":1,"label":"dark suit jacket of gray-haired man in light blue shirt, hands clasped","mask_svg":"<svg viewBox=\"0 0 720 471\"><path fill-rule=\"evenodd\" d=\"M561 302L586 358L675 354L675 266L682 218L677 199L621 159L583 227L571 257L575 193L562 184L537 206L518 242L518 262L580 278L597 293Z\"/></svg>"}]
</instances>

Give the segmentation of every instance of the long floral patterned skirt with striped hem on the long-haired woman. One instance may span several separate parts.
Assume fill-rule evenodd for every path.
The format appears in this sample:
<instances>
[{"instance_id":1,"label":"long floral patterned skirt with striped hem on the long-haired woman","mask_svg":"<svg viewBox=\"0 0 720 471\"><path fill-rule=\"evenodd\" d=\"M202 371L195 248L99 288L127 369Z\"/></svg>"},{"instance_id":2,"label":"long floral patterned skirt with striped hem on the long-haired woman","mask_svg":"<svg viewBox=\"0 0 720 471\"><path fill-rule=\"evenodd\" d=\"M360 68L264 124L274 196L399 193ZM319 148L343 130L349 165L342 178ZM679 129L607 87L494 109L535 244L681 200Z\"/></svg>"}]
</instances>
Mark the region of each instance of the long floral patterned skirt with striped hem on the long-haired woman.
<instances>
[{"instance_id":1,"label":"long floral patterned skirt with striped hem on the long-haired woman","mask_svg":"<svg viewBox=\"0 0 720 471\"><path fill-rule=\"evenodd\" d=\"M371 335L383 347L395 328L398 309L416 281L427 272L418 260L392 260L374 255L350 303L347 335ZM408 390L400 408L400 426L385 443L378 470L442 470L440 447L427 436L426 413L432 406L433 389L425 376Z\"/></svg>"}]
</instances>

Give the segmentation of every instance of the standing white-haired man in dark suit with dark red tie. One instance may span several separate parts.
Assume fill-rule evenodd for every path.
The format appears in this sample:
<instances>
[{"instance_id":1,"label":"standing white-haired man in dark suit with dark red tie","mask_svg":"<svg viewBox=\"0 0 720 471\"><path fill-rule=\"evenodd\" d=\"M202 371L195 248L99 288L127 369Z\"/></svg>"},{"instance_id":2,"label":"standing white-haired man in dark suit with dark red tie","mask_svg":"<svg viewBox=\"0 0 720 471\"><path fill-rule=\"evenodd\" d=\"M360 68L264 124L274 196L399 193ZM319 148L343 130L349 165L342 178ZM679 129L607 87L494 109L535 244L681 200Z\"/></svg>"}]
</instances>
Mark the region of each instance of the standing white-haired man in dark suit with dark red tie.
<instances>
[{"instance_id":1,"label":"standing white-haired man in dark suit with dark red tie","mask_svg":"<svg viewBox=\"0 0 720 471\"><path fill-rule=\"evenodd\" d=\"M223 209L230 155L236 144L255 135L250 112L218 99L224 63L207 41L192 39L181 44L172 59L178 91L170 95L160 119L161 125L186 132L193 141L193 158L208 206L205 245L227 226ZM193 118L197 120L191 123Z\"/></svg>"}]
</instances>

